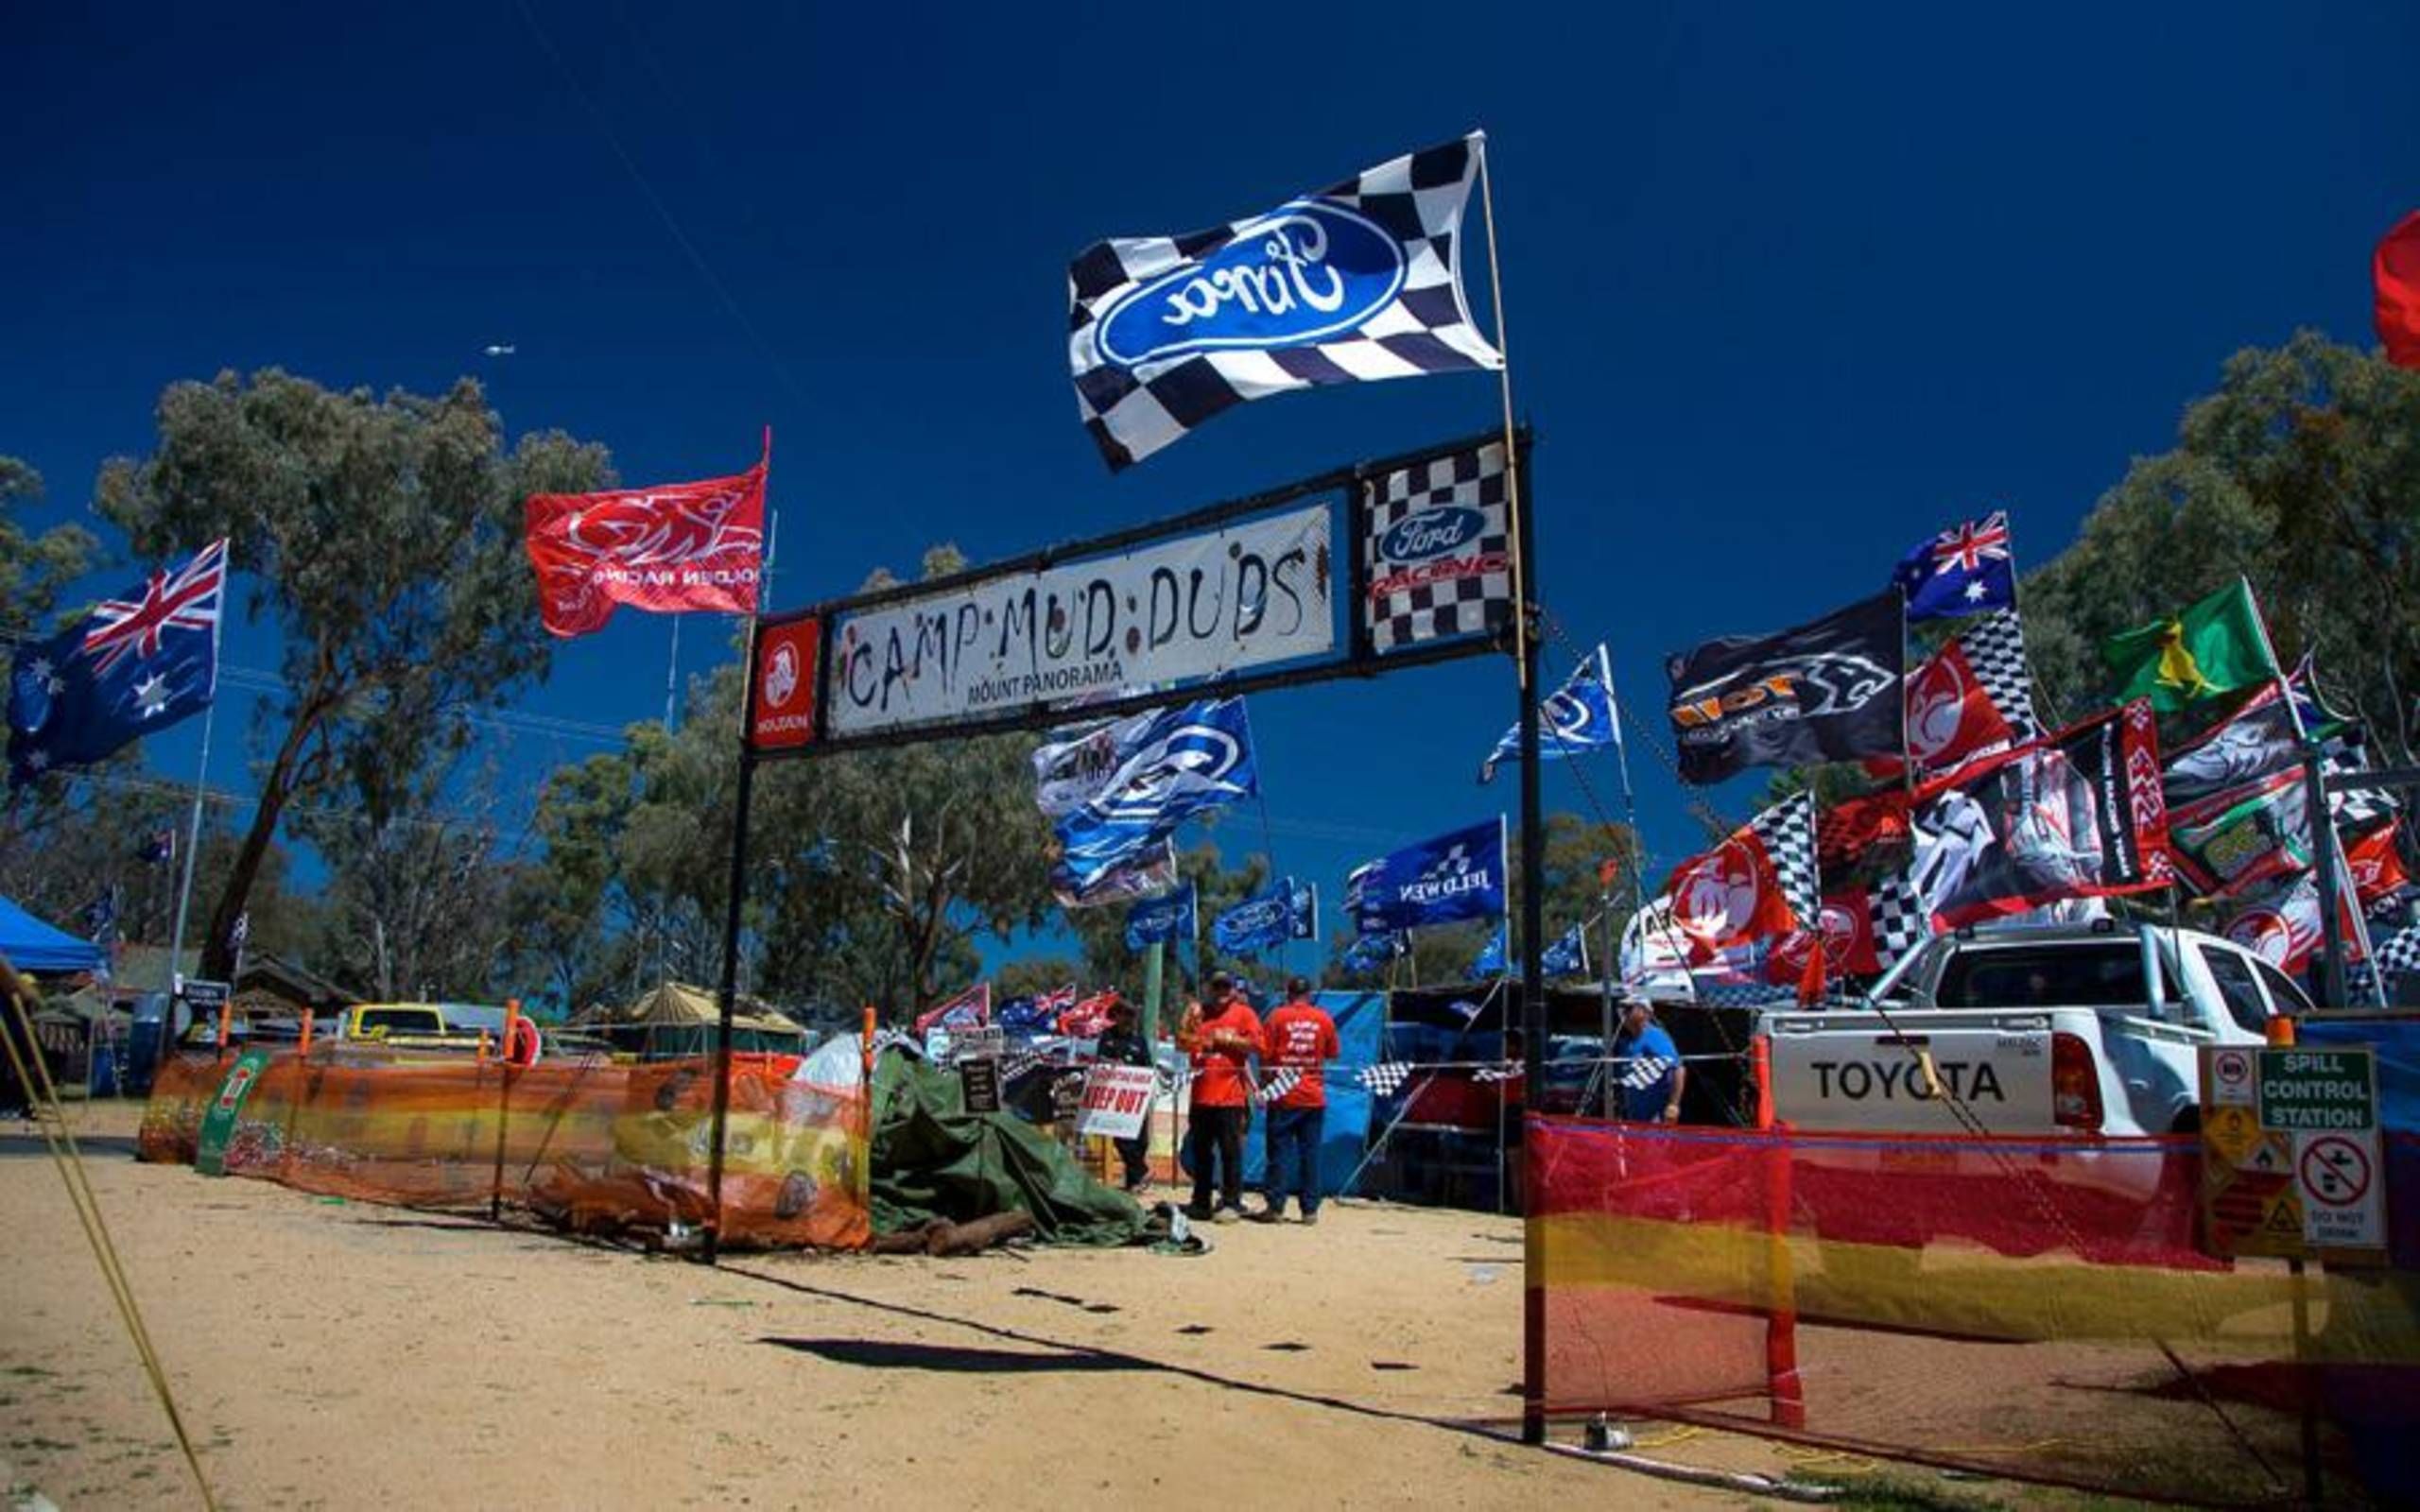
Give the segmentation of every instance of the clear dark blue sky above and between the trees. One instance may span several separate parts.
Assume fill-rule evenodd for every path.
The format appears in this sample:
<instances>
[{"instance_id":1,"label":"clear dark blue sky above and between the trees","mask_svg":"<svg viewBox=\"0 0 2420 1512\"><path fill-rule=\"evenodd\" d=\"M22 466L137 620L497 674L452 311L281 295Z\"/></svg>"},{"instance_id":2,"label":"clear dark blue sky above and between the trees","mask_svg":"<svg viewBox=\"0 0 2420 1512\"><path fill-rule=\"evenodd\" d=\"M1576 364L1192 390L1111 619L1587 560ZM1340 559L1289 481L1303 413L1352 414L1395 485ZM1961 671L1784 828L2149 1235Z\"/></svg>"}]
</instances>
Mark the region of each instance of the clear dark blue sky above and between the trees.
<instances>
[{"instance_id":1,"label":"clear dark blue sky above and between the trees","mask_svg":"<svg viewBox=\"0 0 2420 1512\"><path fill-rule=\"evenodd\" d=\"M1246 494L1483 428L1496 389L1270 399L1111 479L1067 256L1483 126L1544 593L1653 711L1665 651L1871 593L1965 510L2047 556L2226 353L2369 341L2369 247L2420 203L2410 5L530 5L19 7L0 450L48 513L162 385L271 363L477 373L632 481L738 469L770 421L779 602ZM728 653L690 629L687 670ZM651 716L666 639L624 612L520 709ZM1510 806L1471 784L1510 714L1498 663L1256 702L1280 866L1333 888ZM508 733L523 779L593 748ZM1679 793L1634 772L1670 861Z\"/></svg>"}]
</instances>

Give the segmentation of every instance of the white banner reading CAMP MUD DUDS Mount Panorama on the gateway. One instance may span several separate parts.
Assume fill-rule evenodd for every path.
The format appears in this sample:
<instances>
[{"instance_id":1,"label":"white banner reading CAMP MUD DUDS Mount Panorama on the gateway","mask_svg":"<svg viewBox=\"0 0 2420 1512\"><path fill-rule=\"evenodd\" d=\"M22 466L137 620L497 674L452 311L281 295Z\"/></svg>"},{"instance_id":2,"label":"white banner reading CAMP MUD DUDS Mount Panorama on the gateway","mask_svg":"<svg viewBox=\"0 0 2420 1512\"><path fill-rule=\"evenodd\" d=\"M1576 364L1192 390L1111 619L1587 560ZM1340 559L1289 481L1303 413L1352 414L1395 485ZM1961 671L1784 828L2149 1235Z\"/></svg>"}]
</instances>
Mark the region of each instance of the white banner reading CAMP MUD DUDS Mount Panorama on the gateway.
<instances>
[{"instance_id":1,"label":"white banner reading CAMP MUD DUDS Mount Panorama on the gateway","mask_svg":"<svg viewBox=\"0 0 2420 1512\"><path fill-rule=\"evenodd\" d=\"M1336 646L1331 503L832 622L832 735L973 723Z\"/></svg>"}]
</instances>

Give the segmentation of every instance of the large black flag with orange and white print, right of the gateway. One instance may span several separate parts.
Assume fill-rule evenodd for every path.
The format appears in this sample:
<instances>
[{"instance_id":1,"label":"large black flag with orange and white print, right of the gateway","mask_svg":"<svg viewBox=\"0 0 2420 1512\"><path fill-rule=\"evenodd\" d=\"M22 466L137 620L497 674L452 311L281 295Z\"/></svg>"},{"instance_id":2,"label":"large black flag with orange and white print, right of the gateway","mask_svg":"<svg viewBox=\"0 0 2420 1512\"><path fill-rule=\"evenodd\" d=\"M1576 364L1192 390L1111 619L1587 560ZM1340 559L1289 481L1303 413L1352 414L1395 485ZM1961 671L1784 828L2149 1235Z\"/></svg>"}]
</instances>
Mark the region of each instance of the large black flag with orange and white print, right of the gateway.
<instances>
[{"instance_id":1,"label":"large black flag with orange and white print, right of the gateway","mask_svg":"<svg viewBox=\"0 0 2420 1512\"><path fill-rule=\"evenodd\" d=\"M1907 624L1890 588L1771 636L1723 636L1665 663L1682 781L1905 750Z\"/></svg>"}]
</instances>

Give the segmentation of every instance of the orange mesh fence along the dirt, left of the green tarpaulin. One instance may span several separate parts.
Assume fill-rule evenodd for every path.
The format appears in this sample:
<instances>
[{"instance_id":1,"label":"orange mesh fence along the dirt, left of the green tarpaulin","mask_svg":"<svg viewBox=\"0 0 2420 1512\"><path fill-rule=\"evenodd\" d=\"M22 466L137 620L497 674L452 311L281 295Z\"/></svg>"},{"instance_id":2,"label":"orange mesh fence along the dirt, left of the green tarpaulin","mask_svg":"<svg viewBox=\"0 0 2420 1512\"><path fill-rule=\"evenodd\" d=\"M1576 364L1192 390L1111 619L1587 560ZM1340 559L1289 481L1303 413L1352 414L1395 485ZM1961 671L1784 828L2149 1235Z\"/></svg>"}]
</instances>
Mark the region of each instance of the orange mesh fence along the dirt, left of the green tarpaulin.
<instances>
[{"instance_id":1,"label":"orange mesh fence along the dirt, left of the green tarpaulin","mask_svg":"<svg viewBox=\"0 0 2420 1512\"><path fill-rule=\"evenodd\" d=\"M191 1161L230 1067L160 1067L140 1154ZM866 1098L796 1077L794 1055L731 1057L724 1243L859 1248ZM404 1207L528 1210L588 1234L711 1222L714 1062L506 1069L467 1057L278 1052L242 1098L225 1164L298 1190Z\"/></svg>"}]
</instances>

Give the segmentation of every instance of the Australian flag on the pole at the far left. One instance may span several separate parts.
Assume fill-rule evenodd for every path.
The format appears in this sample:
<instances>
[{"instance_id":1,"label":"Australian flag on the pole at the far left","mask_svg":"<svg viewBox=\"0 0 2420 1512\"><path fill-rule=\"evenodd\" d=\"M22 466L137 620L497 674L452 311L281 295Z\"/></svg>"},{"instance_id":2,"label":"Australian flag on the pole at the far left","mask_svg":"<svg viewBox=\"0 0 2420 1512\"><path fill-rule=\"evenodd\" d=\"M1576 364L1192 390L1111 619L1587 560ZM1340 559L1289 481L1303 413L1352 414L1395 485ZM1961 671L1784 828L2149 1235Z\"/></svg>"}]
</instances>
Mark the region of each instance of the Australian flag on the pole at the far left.
<instances>
[{"instance_id":1,"label":"Australian flag on the pole at the far left","mask_svg":"<svg viewBox=\"0 0 2420 1512\"><path fill-rule=\"evenodd\" d=\"M225 585L220 539L123 598L104 598L73 629L19 646L7 689L10 784L87 767L208 706Z\"/></svg>"}]
</instances>

